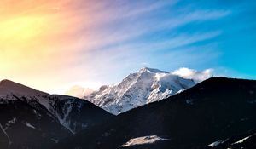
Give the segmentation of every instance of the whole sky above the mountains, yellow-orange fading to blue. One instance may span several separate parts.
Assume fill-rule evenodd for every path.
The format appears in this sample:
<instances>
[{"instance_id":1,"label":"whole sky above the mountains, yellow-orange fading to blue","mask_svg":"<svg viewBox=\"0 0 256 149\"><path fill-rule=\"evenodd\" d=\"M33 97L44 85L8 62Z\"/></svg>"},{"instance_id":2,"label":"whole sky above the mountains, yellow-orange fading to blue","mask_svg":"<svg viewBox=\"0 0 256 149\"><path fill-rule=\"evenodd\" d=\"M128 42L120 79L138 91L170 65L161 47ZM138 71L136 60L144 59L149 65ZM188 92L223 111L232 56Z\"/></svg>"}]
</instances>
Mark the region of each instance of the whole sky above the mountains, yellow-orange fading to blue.
<instances>
[{"instance_id":1,"label":"whole sky above the mountains, yellow-orange fading to blue","mask_svg":"<svg viewBox=\"0 0 256 149\"><path fill-rule=\"evenodd\" d=\"M0 14L0 79L51 94L144 66L256 79L253 0L1 0Z\"/></svg>"}]
</instances>

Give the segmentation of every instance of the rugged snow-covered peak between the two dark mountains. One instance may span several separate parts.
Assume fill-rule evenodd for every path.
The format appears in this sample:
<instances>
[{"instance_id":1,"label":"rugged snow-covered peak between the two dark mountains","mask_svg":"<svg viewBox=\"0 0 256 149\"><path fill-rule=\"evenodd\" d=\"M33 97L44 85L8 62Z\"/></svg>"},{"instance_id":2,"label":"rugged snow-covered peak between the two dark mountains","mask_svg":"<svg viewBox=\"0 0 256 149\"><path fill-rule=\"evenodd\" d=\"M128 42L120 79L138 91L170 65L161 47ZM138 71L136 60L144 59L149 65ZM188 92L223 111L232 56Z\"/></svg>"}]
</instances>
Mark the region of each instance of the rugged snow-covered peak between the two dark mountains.
<instances>
[{"instance_id":1,"label":"rugged snow-covered peak between the two dark mountains","mask_svg":"<svg viewBox=\"0 0 256 149\"><path fill-rule=\"evenodd\" d=\"M84 99L117 115L137 106L165 99L194 85L195 82L191 79L144 67L125 77L121 83L102 86Z\"/></svg>"}]
</instances>

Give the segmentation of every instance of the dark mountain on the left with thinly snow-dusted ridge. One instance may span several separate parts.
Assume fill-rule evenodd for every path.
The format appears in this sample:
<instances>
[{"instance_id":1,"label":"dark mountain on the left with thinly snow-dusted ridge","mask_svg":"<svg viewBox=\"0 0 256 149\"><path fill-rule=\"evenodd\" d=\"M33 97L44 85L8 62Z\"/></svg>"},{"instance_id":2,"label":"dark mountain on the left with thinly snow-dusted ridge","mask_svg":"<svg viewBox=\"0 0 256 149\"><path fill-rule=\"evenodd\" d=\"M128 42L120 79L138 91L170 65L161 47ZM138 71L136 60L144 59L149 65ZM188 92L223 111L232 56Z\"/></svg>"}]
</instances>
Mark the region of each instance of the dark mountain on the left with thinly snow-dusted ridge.
<instances>
[{"instance_id":1,"label":"dark mountain on the left with thinly snow-dusted ridge","mask_svg":"<svg viewBox=\"0 0 256 149\"><path fill-rule=\"evenodd\" d=\"M0 82L0 148L45 149L113 115L86 100Z\"/></svg>"}]
</instances>

